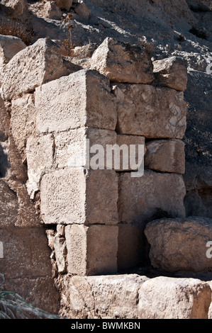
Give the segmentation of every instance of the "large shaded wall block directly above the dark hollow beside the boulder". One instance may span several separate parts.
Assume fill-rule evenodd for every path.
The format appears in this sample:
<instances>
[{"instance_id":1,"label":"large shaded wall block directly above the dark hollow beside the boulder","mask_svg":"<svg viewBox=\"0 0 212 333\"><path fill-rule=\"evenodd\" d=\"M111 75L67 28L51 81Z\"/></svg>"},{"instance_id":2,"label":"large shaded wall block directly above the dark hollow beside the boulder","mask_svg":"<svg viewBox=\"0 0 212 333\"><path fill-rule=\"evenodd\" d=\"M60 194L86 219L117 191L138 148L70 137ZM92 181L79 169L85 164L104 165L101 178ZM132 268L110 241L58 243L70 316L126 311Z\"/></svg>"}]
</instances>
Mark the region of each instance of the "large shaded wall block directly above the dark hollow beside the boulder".
<instances>
[{"instance_id":1,"label":"large shaded wall block directly above the dark hollow beside the boulder","mask_svg":"<svg viewBox=\"0 0 212 333\"><path fill-rule=\"evenodd\" d=\"M184 218L186 189L182 175L145 170L143 176L119 177L118 215L120 222L147 222L159 217Z\"/></svg>"}]
</instances>

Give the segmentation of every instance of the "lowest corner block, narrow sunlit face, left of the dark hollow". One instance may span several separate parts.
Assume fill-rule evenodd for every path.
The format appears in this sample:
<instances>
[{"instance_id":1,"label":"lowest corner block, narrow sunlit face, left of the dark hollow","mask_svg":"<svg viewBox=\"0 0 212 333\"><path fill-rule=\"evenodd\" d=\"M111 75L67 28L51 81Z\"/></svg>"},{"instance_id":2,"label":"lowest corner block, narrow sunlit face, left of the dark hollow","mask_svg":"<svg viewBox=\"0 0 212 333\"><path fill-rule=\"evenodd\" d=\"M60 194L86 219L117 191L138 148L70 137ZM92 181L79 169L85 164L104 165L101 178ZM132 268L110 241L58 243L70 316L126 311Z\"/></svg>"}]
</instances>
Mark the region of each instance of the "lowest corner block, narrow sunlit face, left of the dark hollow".
<instances>
[{"instance_id":1,"label":"lowest corner block, narrow sunlit face, left of the dark hollow","mask_svg":"<svg viewBox=\"0 0 212 333\"><path fill-rule=\"evenodd\" d=\"M117 272L117 226L68 225L65 238L68 273L88 276Z\"/></svg>"}]
</instances>

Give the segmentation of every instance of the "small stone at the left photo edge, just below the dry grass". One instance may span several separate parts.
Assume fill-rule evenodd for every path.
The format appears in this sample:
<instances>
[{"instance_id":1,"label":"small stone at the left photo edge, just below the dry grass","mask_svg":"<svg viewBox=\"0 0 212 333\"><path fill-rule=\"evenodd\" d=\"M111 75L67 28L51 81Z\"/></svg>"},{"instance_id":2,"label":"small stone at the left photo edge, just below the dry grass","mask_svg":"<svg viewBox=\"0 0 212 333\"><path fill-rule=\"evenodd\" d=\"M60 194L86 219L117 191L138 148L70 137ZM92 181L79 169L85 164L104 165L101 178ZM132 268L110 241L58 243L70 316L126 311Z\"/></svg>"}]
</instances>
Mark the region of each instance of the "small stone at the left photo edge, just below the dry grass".
<instances>
[{"instance_id":1,"label":"small stone at the left photo edge, just below the dry grass","mask_svg":"<svg viewBox=\"0 0 212 333\"><path fill-rule=\"evenodd\" d=\"M26 44L21 38L0 35L0 65L9 62L16 53L25 49Z\"/></svg>"}]
</instances>

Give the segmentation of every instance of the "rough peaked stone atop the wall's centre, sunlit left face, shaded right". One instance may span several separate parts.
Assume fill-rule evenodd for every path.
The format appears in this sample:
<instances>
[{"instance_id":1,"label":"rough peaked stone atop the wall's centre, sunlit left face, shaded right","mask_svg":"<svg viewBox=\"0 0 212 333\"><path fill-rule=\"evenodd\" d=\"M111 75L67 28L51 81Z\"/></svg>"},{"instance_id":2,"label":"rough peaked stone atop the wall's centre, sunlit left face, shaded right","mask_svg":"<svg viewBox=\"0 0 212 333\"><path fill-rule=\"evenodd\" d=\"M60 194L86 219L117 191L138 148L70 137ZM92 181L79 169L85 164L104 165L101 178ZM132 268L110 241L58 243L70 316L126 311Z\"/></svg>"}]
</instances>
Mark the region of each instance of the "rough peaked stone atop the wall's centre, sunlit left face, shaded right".
<instances>
[{"instance_id":1,"label":"rough peaked stone atop the wall's centre, sunlit left face, shaded right","mask_svg":"<svg viewBox=\"0 0 212 333\"><path fill-rule=\"evenodd\" d=\"M154 75L150 56L138 45L106 38L91 57L91 69L111 81L150 84Z\"/></svg>"}]
</instances>

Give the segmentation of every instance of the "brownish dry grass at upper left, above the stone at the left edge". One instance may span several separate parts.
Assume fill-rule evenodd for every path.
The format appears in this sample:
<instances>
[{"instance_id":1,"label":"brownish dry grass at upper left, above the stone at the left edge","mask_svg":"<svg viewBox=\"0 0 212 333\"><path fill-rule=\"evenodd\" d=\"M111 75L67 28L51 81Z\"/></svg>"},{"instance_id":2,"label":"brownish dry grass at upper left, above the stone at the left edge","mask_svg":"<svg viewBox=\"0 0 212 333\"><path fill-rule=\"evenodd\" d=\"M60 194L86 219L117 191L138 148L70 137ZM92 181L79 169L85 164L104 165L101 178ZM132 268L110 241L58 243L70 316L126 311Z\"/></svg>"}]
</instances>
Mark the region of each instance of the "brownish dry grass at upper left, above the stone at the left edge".
<instances>
[{"instance_id":1,"label":"brownish dry grass at upper left, above the stone at the left edge","mask_svg":"<svg viewBox=\"0 0 212 333\"><path fill-rule=\"evenodd\" d=\"M25 23L6 17L0 21L0 35L16 36L26 45L31 45L37 39L33 29L28 29Z\"/></svg>"}]
</instances>

